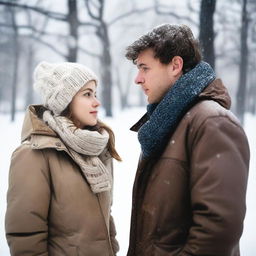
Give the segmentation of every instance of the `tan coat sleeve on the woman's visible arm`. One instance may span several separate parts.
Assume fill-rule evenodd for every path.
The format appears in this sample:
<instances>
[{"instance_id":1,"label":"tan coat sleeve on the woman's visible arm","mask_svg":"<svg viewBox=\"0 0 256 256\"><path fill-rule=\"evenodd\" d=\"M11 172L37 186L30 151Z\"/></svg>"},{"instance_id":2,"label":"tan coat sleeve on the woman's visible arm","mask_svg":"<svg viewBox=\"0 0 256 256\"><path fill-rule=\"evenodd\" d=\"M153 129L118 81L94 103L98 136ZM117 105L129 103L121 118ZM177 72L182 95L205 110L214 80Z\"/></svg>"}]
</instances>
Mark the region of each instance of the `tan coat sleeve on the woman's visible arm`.
<instances>
[{"instance_id":1,"label":"tan coat sleeve on the woman's visible arm","mask_svg":"<svg viewBox=\"0 0 256 256\"><path fill-rule=\"evenodd\" d=\"M11 158L7 193L5 230L12 256L48 256L49 202L50 185L43 153L22 145Z\"/></svg>"}]
</instances>

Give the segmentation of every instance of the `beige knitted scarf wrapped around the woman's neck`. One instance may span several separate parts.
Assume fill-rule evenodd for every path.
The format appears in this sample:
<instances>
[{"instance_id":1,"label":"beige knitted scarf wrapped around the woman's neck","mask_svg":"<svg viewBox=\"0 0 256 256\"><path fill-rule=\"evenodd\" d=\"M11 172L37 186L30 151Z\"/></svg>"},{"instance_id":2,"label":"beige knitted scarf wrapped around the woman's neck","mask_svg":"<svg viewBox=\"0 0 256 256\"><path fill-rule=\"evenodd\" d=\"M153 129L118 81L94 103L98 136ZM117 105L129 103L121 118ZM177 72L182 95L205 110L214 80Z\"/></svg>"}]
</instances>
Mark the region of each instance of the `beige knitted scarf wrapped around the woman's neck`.
<instances>
[{"instance_id":1,"label":"beige knitted scarf wrapped around the woman's neck","mask_svg":"<svg viewBox=\"0 0 256 256\"><path fill-rule=\"evenodd\" d=\"M109 139L103 130L89 131L77 128L64 116L54 116L49 110L43 114L43 120L52 128L67 146L73 160L79 165L94 193L111 189L112 177L100 159Z\"/></svg>"}]
</instances>

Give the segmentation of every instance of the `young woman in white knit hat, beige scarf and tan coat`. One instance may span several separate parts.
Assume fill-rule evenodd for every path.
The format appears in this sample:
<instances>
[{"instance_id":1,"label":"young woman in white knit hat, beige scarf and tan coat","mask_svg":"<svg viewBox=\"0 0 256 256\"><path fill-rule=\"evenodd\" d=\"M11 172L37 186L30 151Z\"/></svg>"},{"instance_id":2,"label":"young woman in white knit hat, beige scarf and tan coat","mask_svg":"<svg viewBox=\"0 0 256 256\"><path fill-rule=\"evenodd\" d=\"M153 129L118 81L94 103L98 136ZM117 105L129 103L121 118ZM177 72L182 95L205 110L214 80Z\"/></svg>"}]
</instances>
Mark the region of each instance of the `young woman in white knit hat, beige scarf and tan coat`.
<instances>
[{"instance_id":1,"label":"young woman in white knit hat, beige scarf and tan coat","mask_svg":"<svg viewBox=\"0 0 256 256\"><path fill-rule=\"evenodd\" d=\"M114 134L97 119L97 77L77 63L41 62L22 144L12 155L6 211L11 255L112 256Z\"/></svg>"}]
</instances>

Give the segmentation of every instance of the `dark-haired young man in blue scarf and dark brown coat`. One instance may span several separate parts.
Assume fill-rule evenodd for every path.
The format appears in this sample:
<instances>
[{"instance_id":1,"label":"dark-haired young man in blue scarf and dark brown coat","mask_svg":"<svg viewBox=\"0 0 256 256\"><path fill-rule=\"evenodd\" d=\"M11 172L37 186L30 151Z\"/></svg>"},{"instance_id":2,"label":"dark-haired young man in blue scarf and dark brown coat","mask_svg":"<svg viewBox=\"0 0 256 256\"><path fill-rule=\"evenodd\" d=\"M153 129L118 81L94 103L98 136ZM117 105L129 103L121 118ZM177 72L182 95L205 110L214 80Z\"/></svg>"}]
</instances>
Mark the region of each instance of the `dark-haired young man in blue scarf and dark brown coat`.
<instances>
[{"instance_id":1,"label":"dark-haired young man in blue scarf and dark brown coat","mask_svg":"<svg viewBox=\"0 0 256 256\"><path fill-rule=\"evenodd\" d=\"M246 135L187 26L164 24L127 48L147 113L128 256L238 256L249 169Z\"/></svg>"}]
</instances>

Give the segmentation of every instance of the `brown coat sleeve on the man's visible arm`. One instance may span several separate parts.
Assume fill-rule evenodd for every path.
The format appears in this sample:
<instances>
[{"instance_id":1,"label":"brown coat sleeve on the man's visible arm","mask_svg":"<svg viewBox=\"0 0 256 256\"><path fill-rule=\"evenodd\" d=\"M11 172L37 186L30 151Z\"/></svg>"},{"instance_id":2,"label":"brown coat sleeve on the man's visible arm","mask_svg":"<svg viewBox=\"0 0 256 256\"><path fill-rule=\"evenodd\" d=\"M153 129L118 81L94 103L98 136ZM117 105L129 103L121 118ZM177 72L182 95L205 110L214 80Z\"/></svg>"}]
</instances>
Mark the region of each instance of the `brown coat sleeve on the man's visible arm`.
<instances>
[{"instance_id":1,"label":"brown coat sleeve on the man's visible arm","mask_svg":"<svg viewBox=\"0 0 256 256\"><path fill-rule=\"evenodd\" d=\"M181 255L232 255L246 211L247 138L228 117L211 117L197 130L190 153L192 226Z\"/></svg>"}]
</instances>

